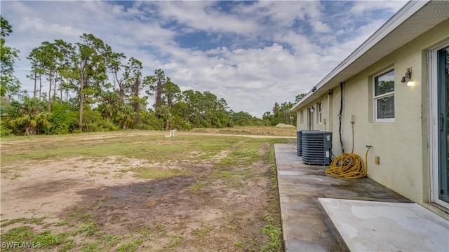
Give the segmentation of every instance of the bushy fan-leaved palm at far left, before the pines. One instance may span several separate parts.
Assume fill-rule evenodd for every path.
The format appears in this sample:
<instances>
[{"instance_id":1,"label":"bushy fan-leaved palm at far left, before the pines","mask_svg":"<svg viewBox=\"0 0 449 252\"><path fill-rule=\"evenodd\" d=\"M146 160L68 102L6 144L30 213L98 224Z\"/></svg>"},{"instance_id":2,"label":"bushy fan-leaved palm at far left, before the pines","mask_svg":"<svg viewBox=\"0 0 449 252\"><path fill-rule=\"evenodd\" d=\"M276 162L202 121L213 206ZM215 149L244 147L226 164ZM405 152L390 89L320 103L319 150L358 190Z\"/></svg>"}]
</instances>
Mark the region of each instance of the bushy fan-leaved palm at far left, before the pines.
<instances>
[{"instance_id":1,"label":"bushy fan-leaved palm at far left, before the pines","mask_svg":"<svg viewBox=\"0 0 449 252\"><path fill-rule=\"evenodd\" d=\"M51 113L44 109L45 103L36 97L23 97L23 103L15 103L14 114L11 114L9 124L12 127L25 128L25 135L38 133L36 129L50 127Z\"/></svg>"}]
</instances>

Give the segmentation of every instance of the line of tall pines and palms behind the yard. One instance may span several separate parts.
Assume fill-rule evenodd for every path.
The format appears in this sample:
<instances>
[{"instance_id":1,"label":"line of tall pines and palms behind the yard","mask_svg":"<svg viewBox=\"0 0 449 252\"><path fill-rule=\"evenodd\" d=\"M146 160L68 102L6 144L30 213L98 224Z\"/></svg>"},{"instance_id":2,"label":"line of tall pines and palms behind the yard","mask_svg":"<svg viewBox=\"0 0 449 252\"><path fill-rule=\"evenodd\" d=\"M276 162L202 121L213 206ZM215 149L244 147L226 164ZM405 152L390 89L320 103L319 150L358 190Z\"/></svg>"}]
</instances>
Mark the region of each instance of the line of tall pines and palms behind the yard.
<instances>
[{"instance_id":1,"label":"line of tall pines and palms behind the yard","mask_svg":"<svg viewBox=\"0 0 449 252\"><path fill-rule=\"evenodd\" d=\"M6 45L13 29L0 18L1 136L295 125L291 102L276 102L262 118L236 113L212 92L181 91L162 69L145 75L142 62L114 52L93 34L82 34L74 44L57 39L34 48L27 57L34 89L23 91L13 69L19 51Z\"/></svg>"}]
</instances>

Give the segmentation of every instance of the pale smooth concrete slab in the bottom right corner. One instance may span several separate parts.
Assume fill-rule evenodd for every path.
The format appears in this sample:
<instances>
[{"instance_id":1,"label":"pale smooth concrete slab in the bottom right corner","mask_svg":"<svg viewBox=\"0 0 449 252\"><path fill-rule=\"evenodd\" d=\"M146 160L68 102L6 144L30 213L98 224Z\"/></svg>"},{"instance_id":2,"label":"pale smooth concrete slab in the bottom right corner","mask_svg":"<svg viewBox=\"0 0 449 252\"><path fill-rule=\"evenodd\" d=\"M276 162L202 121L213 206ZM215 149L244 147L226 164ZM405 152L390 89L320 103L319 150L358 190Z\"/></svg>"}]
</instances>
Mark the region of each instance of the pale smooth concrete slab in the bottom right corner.
<instances>
[{"instance_id":1,"label":"pale smooth concrete slab in the bottom right corner","mask_svg":"<svg viewBox=\"0 0 449 252\"><path fill-rule=\"evenodd\" d=\"M415 203L319 199L351 251L449 251L449 223Z\"/></svg>"}]
</instances>

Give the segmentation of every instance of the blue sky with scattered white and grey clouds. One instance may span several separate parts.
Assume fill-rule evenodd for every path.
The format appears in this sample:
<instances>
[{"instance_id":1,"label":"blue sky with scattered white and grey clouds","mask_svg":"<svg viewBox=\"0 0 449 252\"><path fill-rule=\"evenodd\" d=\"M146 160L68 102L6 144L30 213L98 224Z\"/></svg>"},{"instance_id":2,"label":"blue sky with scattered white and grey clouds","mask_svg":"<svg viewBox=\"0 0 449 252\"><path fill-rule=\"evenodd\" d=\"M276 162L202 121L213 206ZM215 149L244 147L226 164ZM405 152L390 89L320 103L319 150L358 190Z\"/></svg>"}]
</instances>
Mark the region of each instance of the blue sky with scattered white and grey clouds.
<instances>
[{"instance_id":1,"label":"blue sky with scattered white and grey clouds","mask_svg":"<svg viewBox=\"0 0 449 252\"><path fill-rule=\"evenodd\" d=\"M162 69L181 90L209 90L232 110L261 117L274 102L309 92L405 4L1 1L0 12L13 27L7 43L20 50L15 75L27 90L33 48L86 33L139 59L144 76Z\"/></svg>"}]
</instances>

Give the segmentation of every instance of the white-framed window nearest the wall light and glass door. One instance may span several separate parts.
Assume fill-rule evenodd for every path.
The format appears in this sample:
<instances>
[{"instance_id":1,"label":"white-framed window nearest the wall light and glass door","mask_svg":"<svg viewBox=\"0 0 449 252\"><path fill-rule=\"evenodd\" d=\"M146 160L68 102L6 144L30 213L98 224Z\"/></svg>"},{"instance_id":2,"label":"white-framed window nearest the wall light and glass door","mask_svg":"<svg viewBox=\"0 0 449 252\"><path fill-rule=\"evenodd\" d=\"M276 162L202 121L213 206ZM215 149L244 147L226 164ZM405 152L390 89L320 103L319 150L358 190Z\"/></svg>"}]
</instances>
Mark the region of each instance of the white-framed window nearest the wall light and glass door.
<instances>
[{"instance_id":1,"label":"white-framed window nearest the wall light and glass door","mask_svg":"<svg viewBox=\"0 0 449 252\"><path fill-rule=\"evenodd\" d=\"M374 121L394 122L394 69L374 78Z\"/></svg>"}]
</instances>

